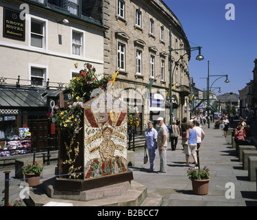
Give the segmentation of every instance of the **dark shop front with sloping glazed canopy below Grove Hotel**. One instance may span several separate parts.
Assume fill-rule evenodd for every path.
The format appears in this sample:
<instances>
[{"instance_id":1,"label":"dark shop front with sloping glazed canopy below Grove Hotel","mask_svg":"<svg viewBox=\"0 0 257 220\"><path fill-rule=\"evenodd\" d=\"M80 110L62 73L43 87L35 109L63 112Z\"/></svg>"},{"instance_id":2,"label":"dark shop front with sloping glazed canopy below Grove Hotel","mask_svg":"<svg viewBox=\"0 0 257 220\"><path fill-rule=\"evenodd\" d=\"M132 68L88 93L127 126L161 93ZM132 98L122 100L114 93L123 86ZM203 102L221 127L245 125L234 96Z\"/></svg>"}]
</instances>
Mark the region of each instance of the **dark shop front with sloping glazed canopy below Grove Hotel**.
<instances>
[{"instance_id":1,"label":"dark shop front with sloping glazed canopy below Grove Hotel","mask_svg":"<svg viewBox=\"0 0 257 220\"><path fill-rule=\"evenodd\" d=\"M46 151L48 94L45 90L0 88L1 157Z\"/></svg>"}]
</instances>

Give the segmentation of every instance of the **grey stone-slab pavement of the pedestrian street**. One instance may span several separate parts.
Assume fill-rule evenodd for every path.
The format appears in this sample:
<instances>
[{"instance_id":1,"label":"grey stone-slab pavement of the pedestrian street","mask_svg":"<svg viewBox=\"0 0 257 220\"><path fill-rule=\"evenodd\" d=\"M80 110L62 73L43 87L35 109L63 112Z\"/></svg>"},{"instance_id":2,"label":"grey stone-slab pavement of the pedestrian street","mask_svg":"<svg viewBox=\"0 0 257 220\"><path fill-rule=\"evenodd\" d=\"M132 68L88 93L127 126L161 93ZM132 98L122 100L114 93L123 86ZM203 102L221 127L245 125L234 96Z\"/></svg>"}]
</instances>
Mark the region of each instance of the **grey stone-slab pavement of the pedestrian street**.
<instances>
[{"instance_id":1,"label":"grey stone-slab pavement of the pedestrian street","mask_svg":"<svg viewBox=\"0 0 257 220\"><path fill-rule=\"evenodd\" d=\"M167 173L158 174L160 159L156 154L155 170L149 172L148 164L143 164L143 149L135 151L133 171L134 181L147 186L147 190L163 197L162 206L257 206L256 181L248 180L248 170L243 170L242 162L235 156L235 149L231 145L231 135L225 137L222 129L214 129L210 123L202 126L206 136L201 143L199 151L200 166L208 166L210 169L210 183L208 195L194 195L191 180L186 175L188 167L181 145L175 151L171 151L169 143L167 150ZM193 162L193 157L190 157ZM191 164L194 166L194 164ZM45 166L40 182L54 177L56 164ZM5 175L3 171L10 173L9 202L13 203L23 194L24 187L21 179L15 176L14 168L0 170L0 189L5 188ZM234 189L234 190L233 190ZM232 197L234 192L234 198ZM0 193L0 200L4 193ZM0 201L0 206L3 206Z\"/></svg>"}]
</instances>

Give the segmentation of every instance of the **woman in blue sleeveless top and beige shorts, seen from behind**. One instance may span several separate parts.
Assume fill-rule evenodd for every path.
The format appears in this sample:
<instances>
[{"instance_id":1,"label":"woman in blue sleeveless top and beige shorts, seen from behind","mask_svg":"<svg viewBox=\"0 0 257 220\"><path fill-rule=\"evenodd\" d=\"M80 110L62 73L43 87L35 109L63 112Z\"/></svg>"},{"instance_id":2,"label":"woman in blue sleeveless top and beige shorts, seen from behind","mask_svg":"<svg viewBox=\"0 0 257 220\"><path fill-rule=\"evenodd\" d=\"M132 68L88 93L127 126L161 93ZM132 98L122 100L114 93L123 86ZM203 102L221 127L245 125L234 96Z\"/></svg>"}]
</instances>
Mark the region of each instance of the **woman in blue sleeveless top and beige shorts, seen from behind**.
<instances>
[{"instance_id":1,"label":"woman in blue sleeveless top and beige shorts, seen from behind","mask_svg":"<svg viewBox=\"0 0 257 220\"><path fill-rule=\"evenodd\" d=\"M189 155L193 156L195 166L198 166L197 164L197 133L193 129L193 122L188 122L187 124L187 130L186 130L186 137L183 137L183 140L187 140L188 144L185 145L184 151L186 154L186 166L189 166Z\"/></svg>"}]
</instances>

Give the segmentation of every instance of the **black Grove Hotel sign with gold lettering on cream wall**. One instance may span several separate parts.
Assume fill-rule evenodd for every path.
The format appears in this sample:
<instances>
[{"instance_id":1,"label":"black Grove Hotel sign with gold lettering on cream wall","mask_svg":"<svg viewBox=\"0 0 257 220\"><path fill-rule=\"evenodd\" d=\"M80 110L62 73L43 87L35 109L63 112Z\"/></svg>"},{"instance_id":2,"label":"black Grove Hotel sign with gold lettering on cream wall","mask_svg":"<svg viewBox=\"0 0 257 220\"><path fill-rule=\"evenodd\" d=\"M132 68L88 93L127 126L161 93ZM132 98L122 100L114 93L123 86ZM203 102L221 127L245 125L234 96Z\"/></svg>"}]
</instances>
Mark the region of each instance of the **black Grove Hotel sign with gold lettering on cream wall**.
<instances>
[{"instance_id":1,"label":"black Grove Hotel sign with gold lettering on cream wall","mask_svg":"<svg viewBox=\"0 0 257 220\"><path fill-rule=\"evenodd\" d=\"M25 19L20 19L17 10L3 8L3 37L25 41Z\"/></svg>"}]
</instances>

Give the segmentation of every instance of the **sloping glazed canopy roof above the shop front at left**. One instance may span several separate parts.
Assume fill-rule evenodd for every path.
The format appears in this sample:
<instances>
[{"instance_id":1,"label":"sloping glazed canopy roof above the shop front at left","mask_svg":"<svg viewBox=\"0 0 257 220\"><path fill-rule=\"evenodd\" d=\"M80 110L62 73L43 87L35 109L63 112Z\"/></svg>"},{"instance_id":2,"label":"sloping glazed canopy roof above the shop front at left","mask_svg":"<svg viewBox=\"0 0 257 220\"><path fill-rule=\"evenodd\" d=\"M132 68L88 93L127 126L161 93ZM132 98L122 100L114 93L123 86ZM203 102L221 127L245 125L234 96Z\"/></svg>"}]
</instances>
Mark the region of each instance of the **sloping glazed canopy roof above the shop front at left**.
<instances>
[{"instance_id":1,"label":"sloping glazed canopy roof above the shop front at left","mask_svg":"<svg viewBox=\"0 0 257 220\"><path fill-rule=\"evenodd\" d=\"M60 90L0 89L0 107L47 107L47 96L58 96Z\"/></svg>"}]
</instances>

